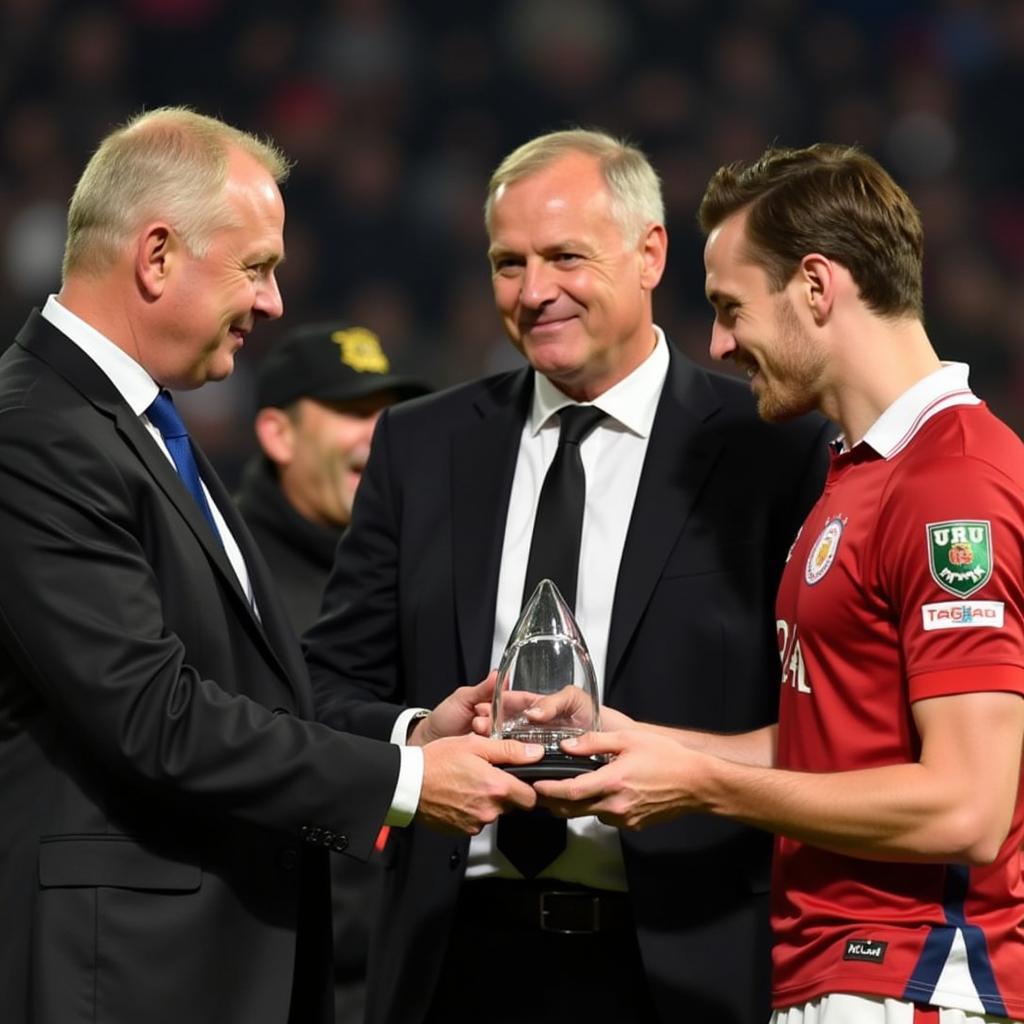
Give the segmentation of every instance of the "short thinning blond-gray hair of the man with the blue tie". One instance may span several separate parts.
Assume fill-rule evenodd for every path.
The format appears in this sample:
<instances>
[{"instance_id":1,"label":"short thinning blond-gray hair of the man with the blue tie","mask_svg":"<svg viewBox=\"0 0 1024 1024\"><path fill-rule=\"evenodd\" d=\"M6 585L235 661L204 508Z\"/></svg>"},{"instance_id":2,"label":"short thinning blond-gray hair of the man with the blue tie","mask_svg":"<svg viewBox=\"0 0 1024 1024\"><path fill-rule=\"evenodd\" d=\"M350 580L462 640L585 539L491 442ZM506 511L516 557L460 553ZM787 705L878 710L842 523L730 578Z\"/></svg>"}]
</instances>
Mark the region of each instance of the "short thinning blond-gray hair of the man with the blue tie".
<instances>
[{"instance_id":1,"label":"short thinning blond-gray hair of the man with the blue tie","mask_svg":"<svg viewBox=\"0 0 1024 1024\"><path fill-rule=\"evenodd\" d=\"M75 186L68 211L63 272L108 267L147 217L166 217L194 256L226 226L223 184L231 148L278 182L290 164L272 142L185 106L137 115L109 134Z\"/></svg>"}]
</instances>

